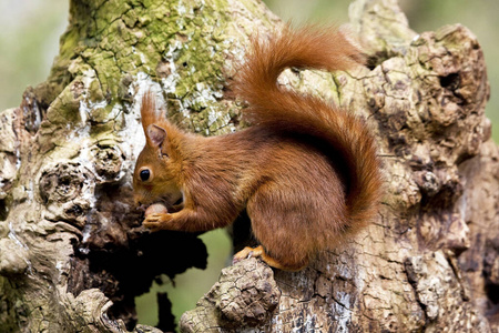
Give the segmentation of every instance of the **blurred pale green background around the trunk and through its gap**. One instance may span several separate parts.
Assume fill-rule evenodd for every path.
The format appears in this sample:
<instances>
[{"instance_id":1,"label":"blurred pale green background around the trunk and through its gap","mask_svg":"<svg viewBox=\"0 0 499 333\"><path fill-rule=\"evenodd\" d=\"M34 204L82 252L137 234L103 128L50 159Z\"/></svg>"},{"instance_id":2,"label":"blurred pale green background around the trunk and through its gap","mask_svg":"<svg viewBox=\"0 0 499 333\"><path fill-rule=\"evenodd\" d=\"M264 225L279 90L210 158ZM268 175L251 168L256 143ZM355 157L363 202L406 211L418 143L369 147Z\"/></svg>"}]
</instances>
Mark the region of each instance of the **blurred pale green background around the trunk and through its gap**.
<instances>
[{"instance_id":1,"label":"blurred pale green background around the trunk and through its gap","mask_svg":"<svg viewBox=\"0 0 499 333\"><path fill-rule=\"evenodd\" d=\"M268 7L285 20L335 21L348 20L349 0L267 0ZM400 0L410 27L416 32L435 30L445 24L462 23L478 37L488 63L491 98L487 114L499 123L499 31L498 0ZM59 36L68 23L67 0L0 0L0 111L20 104L28 85L37 85L49 74L58 53ZM499 132L493 130L499 142ZM156 324L155 292L166 291L177 316L193 309L196 301L218 279L221 269L230 262L230 240L224 230L202 236L208 248L207 271L190 270L175 279L154 285L153 292L138 297L140 322Z\"/></svg>"}]
</instances>

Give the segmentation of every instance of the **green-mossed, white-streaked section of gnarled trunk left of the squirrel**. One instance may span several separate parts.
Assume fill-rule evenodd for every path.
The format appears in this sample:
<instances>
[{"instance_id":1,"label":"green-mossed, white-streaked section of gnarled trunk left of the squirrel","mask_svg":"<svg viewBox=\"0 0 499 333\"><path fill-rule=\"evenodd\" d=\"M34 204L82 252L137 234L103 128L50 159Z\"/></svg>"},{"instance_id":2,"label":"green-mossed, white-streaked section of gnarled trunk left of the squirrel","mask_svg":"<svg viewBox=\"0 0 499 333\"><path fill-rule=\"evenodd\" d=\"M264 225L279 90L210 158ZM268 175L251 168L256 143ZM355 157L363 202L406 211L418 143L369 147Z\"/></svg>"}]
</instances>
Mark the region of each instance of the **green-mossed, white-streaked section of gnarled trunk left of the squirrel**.
<instances>
[{"instance_id":1,"label":"green-mossed, white-streaked section of gnarled trunk left of the squirrel","mask_svg":"<svg viewBox=\"0 0 499 333\"><path fill-rule=\"evenodd\" d=\"M222 68L247 38L231 21L234 10L245 8L226 1L71 1L50 77L27 90L20 108L1 114L6 327L125 331L123 323L131 329L136 321L134 295L154 276L205 266L206 250L195 235L133 229L141 220L131 192L144 142L139 101L151 89L190 130L234 130L236 108L221 101ZM181 245L196 254L167 255ZM165 253L163 264L156 253Z\"/></svg>"}]
</instances>

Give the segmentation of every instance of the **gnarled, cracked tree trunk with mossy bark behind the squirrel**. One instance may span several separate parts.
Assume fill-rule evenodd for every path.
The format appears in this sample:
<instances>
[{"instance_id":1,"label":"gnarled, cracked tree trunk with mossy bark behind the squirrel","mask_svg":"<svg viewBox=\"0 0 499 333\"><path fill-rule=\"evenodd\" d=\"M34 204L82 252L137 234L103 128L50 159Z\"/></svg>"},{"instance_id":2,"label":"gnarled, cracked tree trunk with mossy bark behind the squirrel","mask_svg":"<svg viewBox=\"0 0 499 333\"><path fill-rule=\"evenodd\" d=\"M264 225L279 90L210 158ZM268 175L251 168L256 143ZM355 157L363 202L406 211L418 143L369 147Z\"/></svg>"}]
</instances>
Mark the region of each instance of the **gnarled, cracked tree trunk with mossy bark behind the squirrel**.
<instances>
[{"instance_id":1,"label":"gnarled, cracked tree trunk with mossy bark behind the squirrel","mask_svg":"<svg viewBox=\"0 0 499 333\"><path fill-rule=\"evenodd\" d=\"M49 79L0 113L0 326L161 332L135 327L134 296L203 268L206 250L139 228L141 95L163 91L192 131L237 130L224 80L248 36L282 22L257 0L72 0L70 11ZM182 331L499 332L499 152L480 46L459 24L416 34L395 0L357 0L350 20L368 68L281 79L367 120L386 175L376 221L301 272L255 259L224 269ZM174 329L167 313L160 322Z\"/></svg>"}]
</instances>

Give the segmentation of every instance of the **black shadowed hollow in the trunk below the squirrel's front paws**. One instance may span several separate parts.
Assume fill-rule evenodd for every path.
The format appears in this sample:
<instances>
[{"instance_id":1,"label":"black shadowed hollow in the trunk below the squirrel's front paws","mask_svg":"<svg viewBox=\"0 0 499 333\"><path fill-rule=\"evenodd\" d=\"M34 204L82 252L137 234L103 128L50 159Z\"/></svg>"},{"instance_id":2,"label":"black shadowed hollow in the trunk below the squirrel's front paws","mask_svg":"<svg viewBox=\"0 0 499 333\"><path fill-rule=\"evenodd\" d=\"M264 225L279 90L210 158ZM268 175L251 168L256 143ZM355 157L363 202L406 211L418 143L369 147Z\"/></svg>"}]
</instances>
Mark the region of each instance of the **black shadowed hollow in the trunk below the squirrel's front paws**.
<instances>
[{"instance_id":1,"label":"black shadowed hollow in the trunk below the squirrel's front paws","mask_svg":"<svg viewBox=\"0 0 499 333\"><path fill-rule=\"evenodd\" d=\"M150 292L153 281L160 281L159 276L171 280L191 268L206 268L206 246L194 234L144 233L132 236L128 244L114 244L109 242L102 248L90 244L85 249L75 244L78 255L72 262L69 291L78 295L83 290L100 289L113 302L109 317L123 320L130 331L142 322L136 315L135 297ZM165 306L167 297L161 296L160 323L165 331L174 331L174 316L169 315L170 309ZM157 325L156 297L152 303L156 321L146 324Z\"/></svg>"}]
</instances>

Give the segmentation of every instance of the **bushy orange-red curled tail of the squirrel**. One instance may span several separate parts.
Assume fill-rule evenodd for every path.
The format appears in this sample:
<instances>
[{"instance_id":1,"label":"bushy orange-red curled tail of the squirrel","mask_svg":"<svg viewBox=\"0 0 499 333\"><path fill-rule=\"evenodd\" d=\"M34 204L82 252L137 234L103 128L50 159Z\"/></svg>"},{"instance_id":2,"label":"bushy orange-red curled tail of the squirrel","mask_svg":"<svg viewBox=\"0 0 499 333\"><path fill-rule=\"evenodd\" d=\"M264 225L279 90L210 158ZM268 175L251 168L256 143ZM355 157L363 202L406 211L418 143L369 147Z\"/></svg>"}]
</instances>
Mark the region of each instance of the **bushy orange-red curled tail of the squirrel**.
<instances>
[{"instance_id":1,"label":"bushy orange-red curled tail of the squirrel","mask_svg":"<svg viewBox=\"0 0 499 333\"><path fill-rule=\"evenodd\" d=\"M329 158L348 173L352 231L373 216L379 200L381 181L374 139L355 115L316 97L281 89L277 78L286 68L346 70L361 60L359 49L335 28L286 27L269 38L253 38L246 62L231 87L248 103L243 112L254 125L298 138L312 135L332 147Z\"/></svg>"}]
</instances>

